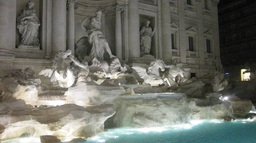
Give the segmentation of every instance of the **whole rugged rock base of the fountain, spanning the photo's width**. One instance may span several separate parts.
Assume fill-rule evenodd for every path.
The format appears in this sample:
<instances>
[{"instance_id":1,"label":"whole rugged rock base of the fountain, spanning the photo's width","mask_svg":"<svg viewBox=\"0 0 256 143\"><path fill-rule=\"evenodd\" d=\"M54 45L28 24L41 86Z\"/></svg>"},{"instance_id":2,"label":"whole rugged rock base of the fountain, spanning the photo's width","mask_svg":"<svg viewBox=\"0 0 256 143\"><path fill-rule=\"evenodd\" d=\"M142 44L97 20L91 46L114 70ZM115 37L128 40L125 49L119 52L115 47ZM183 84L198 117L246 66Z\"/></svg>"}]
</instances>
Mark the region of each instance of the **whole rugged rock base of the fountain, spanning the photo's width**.
<instances>
[{"instance_id":1,"label":"whole rugged rock base of the fountain, spanning the photo's width","mask_svg":"<svg viewBox=\"0 0 256 143\"><path fill-rule=\"evenodd\" d=\"M213 93L211 79L207 78L188 80L172 88L117 86L115 81L104 85L80 82L60 90L40 85L38 78L0 78L0 140L21 135L91 137L103 132L104 126L152 127L190 119L231 120L248 117L252 109L250 100L236 96L219 100L221 94ZM164 92L176 93L159 94ZM177 92L185 93L188 99Z\"/></svg>"}]
</instances>

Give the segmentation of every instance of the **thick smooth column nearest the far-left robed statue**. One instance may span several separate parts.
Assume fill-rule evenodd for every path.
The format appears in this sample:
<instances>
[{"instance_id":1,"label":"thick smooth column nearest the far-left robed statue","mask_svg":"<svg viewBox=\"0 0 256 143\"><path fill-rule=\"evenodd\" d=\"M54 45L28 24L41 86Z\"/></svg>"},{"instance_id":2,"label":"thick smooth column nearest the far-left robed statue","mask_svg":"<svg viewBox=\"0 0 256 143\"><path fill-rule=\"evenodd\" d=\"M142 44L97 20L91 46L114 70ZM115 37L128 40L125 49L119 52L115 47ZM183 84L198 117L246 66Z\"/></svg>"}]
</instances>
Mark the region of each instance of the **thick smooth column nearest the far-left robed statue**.
<instances>
[{"instance_id":1,"label":"thick smooth column nearest the far-left robed statue","mask_svg":"<svg viewBox=\"0 0 256 143\"><path fill-rule=\"evenodd\" d=\"M52 52L66 50L66 0L52 0Z\"/></svg>"}]
</instances>

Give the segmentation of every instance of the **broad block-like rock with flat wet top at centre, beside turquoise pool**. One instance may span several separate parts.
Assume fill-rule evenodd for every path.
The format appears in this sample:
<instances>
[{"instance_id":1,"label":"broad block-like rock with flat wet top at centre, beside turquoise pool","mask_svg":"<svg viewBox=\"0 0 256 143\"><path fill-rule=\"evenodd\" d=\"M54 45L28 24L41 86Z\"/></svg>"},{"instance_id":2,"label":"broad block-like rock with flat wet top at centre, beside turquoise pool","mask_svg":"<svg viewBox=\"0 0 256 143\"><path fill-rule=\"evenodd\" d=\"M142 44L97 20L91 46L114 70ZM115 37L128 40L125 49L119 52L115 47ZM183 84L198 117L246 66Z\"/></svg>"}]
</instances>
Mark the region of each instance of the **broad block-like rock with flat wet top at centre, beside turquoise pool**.
<instances>
[{"instance_id":1,"label":"broad block-like rock with flat wet top at centre, beside turquoise pool","mask_svg":"<svg viewBox=\"0 0 256 143\"><path fill-rule=\"evenodd\" d=\"M113 102L111 127L156 127L187 123L189 108L182 93L122 95Z\"/></svg>"}]
</instances>

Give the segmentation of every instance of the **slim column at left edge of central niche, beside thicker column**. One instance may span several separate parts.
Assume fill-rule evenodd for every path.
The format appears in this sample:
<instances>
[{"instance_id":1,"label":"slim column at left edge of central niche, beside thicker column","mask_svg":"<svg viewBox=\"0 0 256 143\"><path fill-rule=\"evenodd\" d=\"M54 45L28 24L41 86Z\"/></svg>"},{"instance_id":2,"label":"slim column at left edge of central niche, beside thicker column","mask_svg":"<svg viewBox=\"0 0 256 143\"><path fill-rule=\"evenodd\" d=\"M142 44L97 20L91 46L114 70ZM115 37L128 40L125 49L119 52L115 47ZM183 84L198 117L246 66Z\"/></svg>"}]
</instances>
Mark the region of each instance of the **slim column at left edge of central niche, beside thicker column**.
<instances>
[{"instance_id":1,"label":"slim column at left edge of central niche, beside thicker column","mask_svg":"<svg viewBox=\"0 0 256 143\"><path fill-rule=\"evenodd\" d=\"M77 0L68 0L68 30L67 30L67 49L75 53L75 3Z\"/></svg>"}]
</instances>

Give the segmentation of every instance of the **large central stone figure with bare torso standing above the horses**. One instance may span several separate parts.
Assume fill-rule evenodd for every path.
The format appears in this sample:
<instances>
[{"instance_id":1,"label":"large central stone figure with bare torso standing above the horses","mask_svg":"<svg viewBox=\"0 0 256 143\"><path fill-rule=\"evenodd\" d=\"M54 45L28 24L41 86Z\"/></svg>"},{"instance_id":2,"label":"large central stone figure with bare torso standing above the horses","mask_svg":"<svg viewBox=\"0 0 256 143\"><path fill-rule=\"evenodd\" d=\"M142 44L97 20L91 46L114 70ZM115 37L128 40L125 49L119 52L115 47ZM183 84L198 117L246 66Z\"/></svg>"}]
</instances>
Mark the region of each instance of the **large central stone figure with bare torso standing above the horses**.
<instances>
[{"instance_id":1,"label":"large central stone figure with bare torso standing above the horses","mask_svg":"<svg viewBox=\"0 0 256 143\"><path fill-rule=\"evenodd\" d=\"M110 58L116 57L112 54L108 42L100 31L101 28L101 15L102 11L96 11L96 17L86 17L82 22L82 29L85 29L88 33L88 40L81 38L76 45L79 43L80 46L76 49L76 54L83 54L82 58L87 61L91 61L94 57L98 60L104 60L105 51L108 52ZM88 47L87 42L90 43L91 47ZM86 53L84 53L86 52ZM89 53L90 52L90 53ZM76 55L81 57L81 55ZM81 59L79 59L81 60Z\"/></svg>"}]
</instances>

